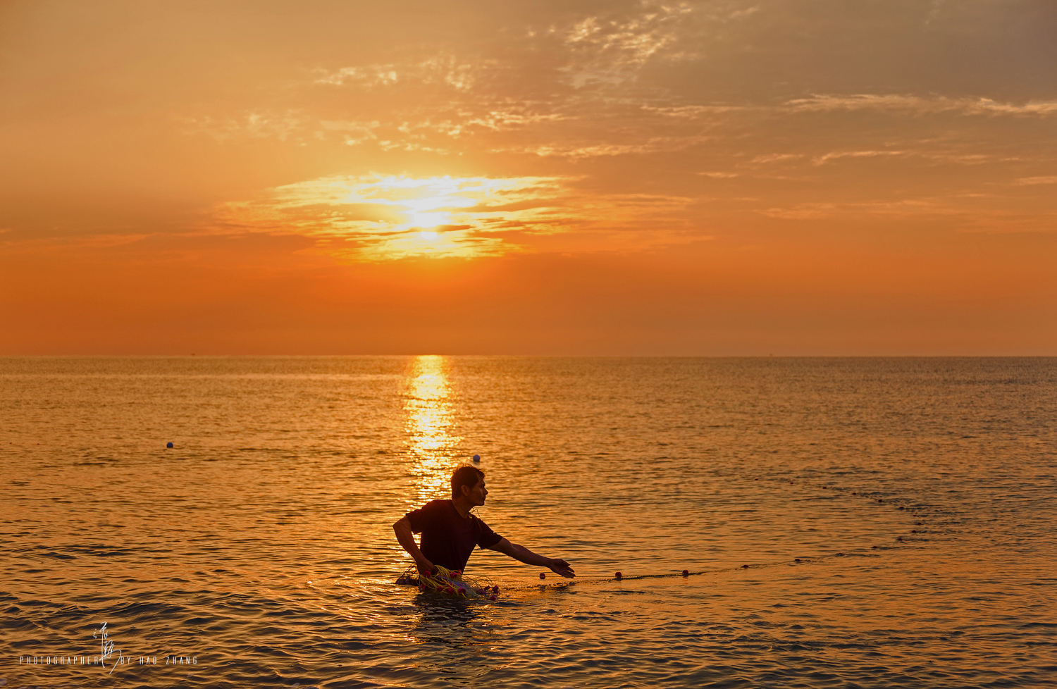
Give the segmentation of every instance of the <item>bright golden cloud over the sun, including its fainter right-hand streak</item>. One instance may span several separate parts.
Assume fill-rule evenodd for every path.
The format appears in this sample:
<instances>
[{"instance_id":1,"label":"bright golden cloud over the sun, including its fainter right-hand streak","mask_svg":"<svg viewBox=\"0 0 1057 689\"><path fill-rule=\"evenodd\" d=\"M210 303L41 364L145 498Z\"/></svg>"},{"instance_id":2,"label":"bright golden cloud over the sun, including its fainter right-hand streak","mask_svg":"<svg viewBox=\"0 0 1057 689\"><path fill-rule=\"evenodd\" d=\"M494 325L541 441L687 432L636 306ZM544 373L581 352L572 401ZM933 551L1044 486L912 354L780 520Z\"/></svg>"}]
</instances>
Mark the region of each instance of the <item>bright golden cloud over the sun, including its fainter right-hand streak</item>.
<instances>
[{"instance_id":1,"label":"bright golden cloud over the sun, including its fainter right-hand streak","mask_svg":"<svg viewBox=\"0 0 1057 689\"><path fill-rule=\"evenodd\" d=\"M534 252L533 238L558 235L608 235L601 250L702 239L685 216L692 199L589 194L575 180L320 178L220 204L203 231L300 235L315 240L315 253L370 262Z\"/></svg>"}]
</instances>

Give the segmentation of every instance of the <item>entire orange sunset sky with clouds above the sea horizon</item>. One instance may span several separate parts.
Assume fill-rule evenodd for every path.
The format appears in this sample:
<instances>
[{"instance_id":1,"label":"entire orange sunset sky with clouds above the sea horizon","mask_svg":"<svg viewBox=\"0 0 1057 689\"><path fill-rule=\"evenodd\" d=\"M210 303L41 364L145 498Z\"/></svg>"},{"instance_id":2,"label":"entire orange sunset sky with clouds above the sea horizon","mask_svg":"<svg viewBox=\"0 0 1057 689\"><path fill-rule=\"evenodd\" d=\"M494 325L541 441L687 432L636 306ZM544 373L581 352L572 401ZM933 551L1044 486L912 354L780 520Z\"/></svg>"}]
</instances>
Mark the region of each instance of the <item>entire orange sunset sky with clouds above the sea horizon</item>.
<instances>
[{"instance_id":1,"label":"entire orange sunset sky with clouds above the sea horizon","mask_svg":"<svg viewBox=\"0 0 1057 689\"><path fill-rule=\"evenodd\" d=\"M1057 355L1052 0L0 2L0 354Z\"/></svg>"}]
</instances>

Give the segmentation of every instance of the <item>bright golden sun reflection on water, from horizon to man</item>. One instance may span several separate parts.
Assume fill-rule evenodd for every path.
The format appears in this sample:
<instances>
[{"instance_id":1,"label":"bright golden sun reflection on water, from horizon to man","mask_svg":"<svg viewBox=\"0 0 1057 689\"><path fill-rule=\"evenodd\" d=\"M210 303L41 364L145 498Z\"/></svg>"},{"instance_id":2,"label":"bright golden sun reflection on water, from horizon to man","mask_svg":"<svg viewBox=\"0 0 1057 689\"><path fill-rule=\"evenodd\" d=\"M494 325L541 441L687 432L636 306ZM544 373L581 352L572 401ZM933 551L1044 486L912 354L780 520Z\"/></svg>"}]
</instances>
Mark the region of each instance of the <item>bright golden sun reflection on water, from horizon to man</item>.
<instances>
[{"instance_id":1,"label":"bright golden sun reflection on water, from horizon to man","mask_svg":"<svg viewBox=\"0 0 1057 689\"><path fill-rule=\"evenodd\" d=\"M456 464L452 392L443 356L419 356L411 364L404 393L407 454L415 478L414 506L448 498L448 479Z\"/></svg>"}]
</instances>

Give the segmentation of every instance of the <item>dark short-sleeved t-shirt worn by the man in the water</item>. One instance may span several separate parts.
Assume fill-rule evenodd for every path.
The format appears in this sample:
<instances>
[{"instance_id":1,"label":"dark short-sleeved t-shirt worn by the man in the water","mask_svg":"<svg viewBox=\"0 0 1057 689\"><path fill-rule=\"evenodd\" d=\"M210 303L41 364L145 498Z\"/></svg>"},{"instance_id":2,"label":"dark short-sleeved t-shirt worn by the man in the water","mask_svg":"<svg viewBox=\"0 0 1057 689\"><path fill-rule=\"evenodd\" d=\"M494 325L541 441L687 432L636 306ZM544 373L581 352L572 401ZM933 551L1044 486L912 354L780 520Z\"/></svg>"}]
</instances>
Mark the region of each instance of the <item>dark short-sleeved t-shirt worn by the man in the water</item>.
<instances>
[{"instance_id":1,"label":"dark short-sleeved t-shirt worn by the man in the water","mask_svg":"<svg viewBox=\"0 0 1057 689\"><path fill-rule=\"evenodd\" d=\"M475 545L492 547L503 539L475 517L464 519L450 500L433 500L407 514L411 530L422 534L422 554L433 564L462 572Z\"/></svg>"}]
</instances>

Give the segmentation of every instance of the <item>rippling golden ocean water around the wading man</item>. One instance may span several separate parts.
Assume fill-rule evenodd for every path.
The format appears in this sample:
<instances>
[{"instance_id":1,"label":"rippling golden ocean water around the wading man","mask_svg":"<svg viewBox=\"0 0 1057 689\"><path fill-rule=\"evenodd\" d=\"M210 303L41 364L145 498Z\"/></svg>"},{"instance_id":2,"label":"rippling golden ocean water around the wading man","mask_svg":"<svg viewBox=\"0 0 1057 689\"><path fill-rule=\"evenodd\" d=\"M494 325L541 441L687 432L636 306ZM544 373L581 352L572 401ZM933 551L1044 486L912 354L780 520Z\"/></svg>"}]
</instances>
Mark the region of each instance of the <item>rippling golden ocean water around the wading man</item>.
<instances>
[{"instance_id":1,"label":"rippling golden ocean water around the wading man","mask_svg":"<svg viewBox=\"0 0 1057 689\"><path fill-rule=\"evenodd\" d=\"M0 686L1057 686L1055 411L1053 358L3 358ZM475 453L575 580L393 583Z\"/></svg>"}]
</instances>

